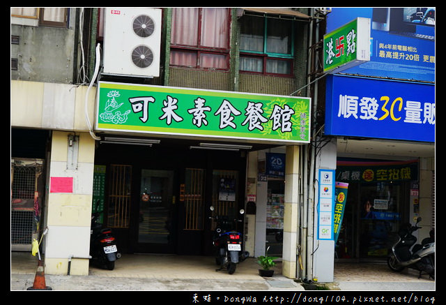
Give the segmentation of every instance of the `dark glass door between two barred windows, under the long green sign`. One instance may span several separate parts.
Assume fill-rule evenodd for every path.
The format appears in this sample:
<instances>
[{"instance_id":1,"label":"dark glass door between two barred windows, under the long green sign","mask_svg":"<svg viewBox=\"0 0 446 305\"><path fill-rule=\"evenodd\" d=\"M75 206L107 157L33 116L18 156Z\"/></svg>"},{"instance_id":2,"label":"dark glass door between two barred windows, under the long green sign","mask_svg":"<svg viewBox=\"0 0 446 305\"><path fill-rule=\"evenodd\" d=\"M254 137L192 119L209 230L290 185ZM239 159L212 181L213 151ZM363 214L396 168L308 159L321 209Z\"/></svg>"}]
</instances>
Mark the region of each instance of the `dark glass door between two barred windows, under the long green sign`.
<instances>
[{"instance_id":1,"label":"dark glass door between two barred windows, under the long green sign","mask_svg":"<svg viewBox=\"0 0 446 305\"><path fill-rule=\"evenodd\" d=\"M141 171L137 241L153 244L153 252L168 252L166 250L174 243L173 186L174 171Z\"/></svg>"}]
</instances>

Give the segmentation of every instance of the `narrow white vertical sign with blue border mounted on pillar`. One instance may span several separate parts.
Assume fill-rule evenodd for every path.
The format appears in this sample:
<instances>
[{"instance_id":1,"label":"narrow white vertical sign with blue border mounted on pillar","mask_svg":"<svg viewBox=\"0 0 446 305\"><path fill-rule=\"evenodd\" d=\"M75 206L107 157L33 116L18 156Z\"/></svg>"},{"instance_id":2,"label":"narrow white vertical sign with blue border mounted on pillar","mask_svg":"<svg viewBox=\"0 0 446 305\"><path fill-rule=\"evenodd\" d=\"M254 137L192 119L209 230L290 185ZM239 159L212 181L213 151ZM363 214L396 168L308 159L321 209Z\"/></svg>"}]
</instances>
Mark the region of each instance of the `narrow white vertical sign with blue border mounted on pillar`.
<instances>
[{"instance_id":1,"label":"narrow white vertical sign with blue border mounted on pillar","mask_svg":"<svg viewBox=\"0 0 446 305\"><path fill-rule=\"evenodd\" d=\"M319 170L318 239L333 239L334 170Z\"/></svg>"}]
</instances>

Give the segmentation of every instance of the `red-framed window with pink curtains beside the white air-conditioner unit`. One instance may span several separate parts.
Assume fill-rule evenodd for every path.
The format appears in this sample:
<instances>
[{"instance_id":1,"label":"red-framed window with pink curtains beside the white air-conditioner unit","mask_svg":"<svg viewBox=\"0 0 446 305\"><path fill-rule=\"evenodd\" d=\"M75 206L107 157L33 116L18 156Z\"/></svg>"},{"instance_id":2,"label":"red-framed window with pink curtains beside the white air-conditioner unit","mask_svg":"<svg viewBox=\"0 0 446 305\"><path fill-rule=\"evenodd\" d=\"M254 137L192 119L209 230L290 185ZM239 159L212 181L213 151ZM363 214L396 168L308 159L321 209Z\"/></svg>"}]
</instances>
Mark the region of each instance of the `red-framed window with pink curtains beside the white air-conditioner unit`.
<instances>
[{"instance_id":1,"label":"red-framed window with pink curtains beside the white air-conditioner unit","mask_svg":"<svg viewBox=\"0 0 446 305\"><path fill-rule=\"evenodd\" d=\"M229 69L229 8L172 8L171 66Z\"/></svg>"}]
</instances>

